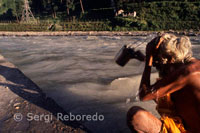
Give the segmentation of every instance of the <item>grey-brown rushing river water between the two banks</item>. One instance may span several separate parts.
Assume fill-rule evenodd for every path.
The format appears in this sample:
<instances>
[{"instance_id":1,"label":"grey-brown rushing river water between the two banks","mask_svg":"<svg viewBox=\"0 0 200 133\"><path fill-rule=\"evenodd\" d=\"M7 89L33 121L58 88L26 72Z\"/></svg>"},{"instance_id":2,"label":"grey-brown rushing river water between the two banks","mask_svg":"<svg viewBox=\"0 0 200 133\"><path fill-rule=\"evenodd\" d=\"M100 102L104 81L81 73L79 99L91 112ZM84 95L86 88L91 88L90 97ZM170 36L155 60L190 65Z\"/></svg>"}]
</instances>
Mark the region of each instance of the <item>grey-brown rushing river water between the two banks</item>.
<instances>
[{"instance_id":1,"label":"grey-brown rushing river water between the two banks","mask_svg":"<svg viewBox=\"0 0 200 133\"><path fill-rule=\"evenodd\" d=\"M141 105L158 116L153 102L131 102L144 63L131 60L125 67L114 62L124 45L145 45L148 36L0 37L0 53L21 69L48 96L76 115L103 115L103 121L80 121L95 133L129 133L126 112ZM190 37L200 58L200 37ZM154 73L154 77L156 73Z\"/></svg>"}]
</instances>

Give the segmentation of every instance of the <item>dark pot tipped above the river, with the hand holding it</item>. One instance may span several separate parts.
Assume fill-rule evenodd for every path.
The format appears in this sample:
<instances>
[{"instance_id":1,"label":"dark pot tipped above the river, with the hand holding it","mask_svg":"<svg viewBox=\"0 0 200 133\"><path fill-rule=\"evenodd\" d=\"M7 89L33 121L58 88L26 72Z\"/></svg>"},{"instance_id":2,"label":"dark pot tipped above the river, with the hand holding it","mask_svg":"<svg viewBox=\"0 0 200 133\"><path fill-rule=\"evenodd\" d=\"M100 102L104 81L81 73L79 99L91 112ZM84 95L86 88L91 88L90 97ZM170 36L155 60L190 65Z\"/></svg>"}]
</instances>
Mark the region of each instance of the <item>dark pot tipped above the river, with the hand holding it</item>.
<instances>
[{"instance_id":1,"label":"dark pot tipped above the river, with the hand holding it","mask_svg":"<svg viewBox=\"0 0 200 133\"><path fill-rule=\"evenodd\" d=\"M115 62L120 66L125 66L130 59L145 60L145 55L141 51L135 51L134 48L124 45L115 56Z\"/></svg>"}]
</instances>

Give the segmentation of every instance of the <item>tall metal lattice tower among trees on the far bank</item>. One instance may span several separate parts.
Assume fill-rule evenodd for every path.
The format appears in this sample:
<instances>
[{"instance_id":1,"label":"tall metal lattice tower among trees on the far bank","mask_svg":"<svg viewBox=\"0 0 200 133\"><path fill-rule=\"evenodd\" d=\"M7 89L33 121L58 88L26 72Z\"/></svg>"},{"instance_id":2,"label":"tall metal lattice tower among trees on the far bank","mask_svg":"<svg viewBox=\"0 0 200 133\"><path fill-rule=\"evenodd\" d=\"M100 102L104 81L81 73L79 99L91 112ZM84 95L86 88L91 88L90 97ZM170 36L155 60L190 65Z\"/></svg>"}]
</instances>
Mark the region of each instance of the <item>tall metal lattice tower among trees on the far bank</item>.
<instances>
[{"instance_id":1,"label":"tall metal lattice tower among trees on the far bank","mask_svg":"<svg viewBox=\"0 0 200 133\"><path fill-rule=\"evenodd\" d=\"M31 8L29 6L28 0L24 0L24 9L22 11L22 22L30 22L35 21L35 17L33 16L33 13L31 12Z\"/></svg>"}]
</instances>

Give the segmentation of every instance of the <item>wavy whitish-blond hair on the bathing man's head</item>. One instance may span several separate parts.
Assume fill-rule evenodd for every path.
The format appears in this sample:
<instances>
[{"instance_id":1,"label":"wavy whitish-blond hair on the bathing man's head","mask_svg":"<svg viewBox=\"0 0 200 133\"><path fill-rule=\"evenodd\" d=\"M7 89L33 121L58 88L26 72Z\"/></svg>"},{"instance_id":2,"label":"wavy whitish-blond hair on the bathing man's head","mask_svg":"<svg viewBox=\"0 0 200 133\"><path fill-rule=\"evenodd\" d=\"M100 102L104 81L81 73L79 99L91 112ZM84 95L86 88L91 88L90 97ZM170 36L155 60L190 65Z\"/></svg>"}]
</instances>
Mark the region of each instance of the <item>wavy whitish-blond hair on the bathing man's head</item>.
<instances>
[{"instance_id":1,"label":"wavy whitish-blond hair on the bathing man's head","mask_svg":"<svg viewBox=\"0 0 200 133\"><path fill-rule=\"evenodd\" d=\"M158 58L161 64L185 63L192 57L191 42L189 37L177 37L173 34L164 33L161 35L164 39L159 47Z\"/></svg>"}]
</instances>

